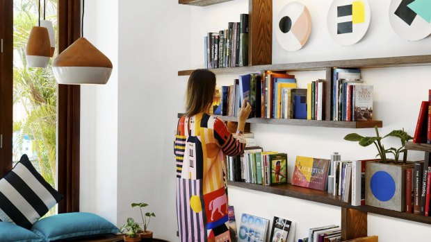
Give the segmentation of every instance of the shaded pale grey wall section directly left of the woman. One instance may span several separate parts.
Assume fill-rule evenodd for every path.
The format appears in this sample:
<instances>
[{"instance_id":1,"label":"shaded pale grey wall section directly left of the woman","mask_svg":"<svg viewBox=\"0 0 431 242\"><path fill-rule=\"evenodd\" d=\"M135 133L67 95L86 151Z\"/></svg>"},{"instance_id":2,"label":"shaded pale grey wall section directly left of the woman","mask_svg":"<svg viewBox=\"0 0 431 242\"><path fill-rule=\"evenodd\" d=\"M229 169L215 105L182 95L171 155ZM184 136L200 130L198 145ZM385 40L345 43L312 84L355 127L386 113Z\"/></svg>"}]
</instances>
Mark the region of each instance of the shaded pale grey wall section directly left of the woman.
<instances>
[{"instance_id":1,"label":"shaded pale grey wall section directly left of the woman","mask_svg":"<svg viewBox=\"0 0 431 242\"><path fill-rule=\"evenodd\" d=\"M190 8L177 1L119 1L118 223L154 211L154 236L174 241L174 126L188 67ZM180 80L179 80L180 79Z\"/></svg>"}]
</instances>

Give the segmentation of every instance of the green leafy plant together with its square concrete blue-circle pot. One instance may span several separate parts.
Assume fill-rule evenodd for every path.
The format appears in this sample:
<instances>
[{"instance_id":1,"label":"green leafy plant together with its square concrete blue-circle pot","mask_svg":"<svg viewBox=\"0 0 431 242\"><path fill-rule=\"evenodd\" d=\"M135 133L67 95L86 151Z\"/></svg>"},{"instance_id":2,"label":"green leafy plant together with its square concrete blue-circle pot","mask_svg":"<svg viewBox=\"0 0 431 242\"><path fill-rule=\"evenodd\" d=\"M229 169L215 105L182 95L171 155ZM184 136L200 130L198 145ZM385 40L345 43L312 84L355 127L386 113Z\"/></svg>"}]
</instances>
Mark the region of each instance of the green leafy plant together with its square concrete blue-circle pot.
<instances>
[{"instance_id":1,"label":"green leafy plant together with its square concrete blue-circle pot","mask_svg":"<svg viewBox=\"0 0 431 242\"><path fill-rule=\"evenodd\" d=\"M405 142L412 139L404 130L393 130L381 137L377 126L375 137L362 137L356 133L344 137L348 141L357 141L360 146L374 144L377 148L376 157L380 160L366 162L365 168L365 204L382 207L396 211L405 211L405 169L412 168L414 164L407 162ZM382 139L396 137L400 139L400 148L384 148ZM393 159L387 155L392 154ZM402 154L402 160L400 161Z\"/></svg>"}]
</instances>

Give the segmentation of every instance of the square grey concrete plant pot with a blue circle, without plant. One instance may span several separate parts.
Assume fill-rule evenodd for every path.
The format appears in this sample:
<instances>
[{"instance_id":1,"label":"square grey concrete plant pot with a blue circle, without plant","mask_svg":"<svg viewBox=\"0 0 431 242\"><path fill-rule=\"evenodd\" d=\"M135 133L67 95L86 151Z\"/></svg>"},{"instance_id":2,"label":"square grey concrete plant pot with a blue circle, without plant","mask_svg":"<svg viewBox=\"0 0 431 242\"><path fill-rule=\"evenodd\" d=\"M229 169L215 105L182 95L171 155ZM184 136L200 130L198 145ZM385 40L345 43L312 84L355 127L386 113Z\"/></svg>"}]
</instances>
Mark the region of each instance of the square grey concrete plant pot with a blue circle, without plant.
<instances>
[{"instance_id":1,"label":"square grey concrete plant pot with a blue circle, without plant","mask_svg":"<svg viewBox=\"0 0 431 242\"><path fill-rule=\"evenodd\" d=\"M365 204L405 211L405 169L414 164L366 162Z\"/></svg>"}]
</instances>

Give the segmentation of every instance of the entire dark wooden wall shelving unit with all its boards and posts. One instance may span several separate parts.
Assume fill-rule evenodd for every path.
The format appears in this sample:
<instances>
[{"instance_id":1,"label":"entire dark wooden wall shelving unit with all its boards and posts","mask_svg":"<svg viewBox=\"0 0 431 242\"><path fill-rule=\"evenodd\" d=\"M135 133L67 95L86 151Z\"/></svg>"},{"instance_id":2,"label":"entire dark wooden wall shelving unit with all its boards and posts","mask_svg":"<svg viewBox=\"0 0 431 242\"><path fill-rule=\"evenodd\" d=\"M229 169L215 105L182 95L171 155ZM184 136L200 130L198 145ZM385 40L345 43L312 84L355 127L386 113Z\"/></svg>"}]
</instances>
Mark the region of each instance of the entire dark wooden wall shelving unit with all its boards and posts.
<instances>
[{"instance_id":1,"label":"entire dark wooden wall shelving unit with all its boards and posts","mask_svg":"<svg viewBox=\"0 0 431 242\"><path fill-rule=\"evenodd\" d=\"M179 0L187 1L187 0ZM209 1L209 0L201 0ZM219 1L224 2L223 0ZM269 11L265 13L265 10ZM393 68L393 67L415 67L430 66L431 55L409 55L393 56L387 58L363 58L351 60L323 60L316 62L293 62L284 64L272 63L272 1L249 0L249 65L247 67L229 67L210 69L216 75L242 75L252 73L263 73L263 71L321 71L325 70L326 79L332 77L332 70L336 68ZM266 26L266 24L268 24ZM260 26L260 27L259 27ZM263 29L261 29L263 28ZM263 40L257 37L263 36ZM189 76L194 69L178 71L178 76ZM329 92L328 92L329 91ZM327 85L327 93L330 93L330 85ZM326 103L330 101L330 95L326 97ZM326 114L330 114L330 105L327 105ZM182 114L179 114L179 116ZM224 121L237 121L234 116L220 116ZM286 126L316 126L325 128L382 128L382 121L373 122L347 122L330 121L330 116L325 117L324 121L316 120L297 120L297 119L247 119L247 123L265 123ZM414 144L407 142L406 148L409 150L422 150L431 152L431 144ZM380 214L391 218L400 218L406 221L414 221L431 225L431 218L417 214L409 214L389 209L381 209L371 206L354 207L347 202L342 202L339 196L332 196L326 191L318 191L303 187L295 187L291 184L279 186L262 186L260 184L250 184L245 182L227 182L229 187L238 187L264 193L272 193L279 196L287 196L311 202L318 202L325 205L332 205L341 208L341 230L342 240L355 239L367 236L367 214Z\"/></svg>"}]
</instances>

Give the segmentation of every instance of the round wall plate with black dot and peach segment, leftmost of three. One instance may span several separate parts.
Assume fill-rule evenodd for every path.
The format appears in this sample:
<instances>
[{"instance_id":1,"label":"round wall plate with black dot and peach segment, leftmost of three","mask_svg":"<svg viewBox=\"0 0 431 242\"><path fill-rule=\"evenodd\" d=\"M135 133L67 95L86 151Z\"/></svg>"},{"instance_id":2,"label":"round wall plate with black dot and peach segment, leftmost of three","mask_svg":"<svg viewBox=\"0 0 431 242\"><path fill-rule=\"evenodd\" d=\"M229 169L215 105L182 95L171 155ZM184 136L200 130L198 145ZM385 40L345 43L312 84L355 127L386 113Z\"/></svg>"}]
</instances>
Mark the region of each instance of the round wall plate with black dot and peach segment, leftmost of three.
<instances>
[{"instance_id":1,"label":"round wall plate with black dot and peach segment, leftmost of three","mask_svg":"<svg viewBox=\"0 0 431 242\"><path fill-rule=\"evenodd\" d=\"M311 15L306 6L294 1L279 12L277 22L277 41L286 51L298 51L307 43L311 33Z\"/></svg>"}]
</instances>

